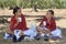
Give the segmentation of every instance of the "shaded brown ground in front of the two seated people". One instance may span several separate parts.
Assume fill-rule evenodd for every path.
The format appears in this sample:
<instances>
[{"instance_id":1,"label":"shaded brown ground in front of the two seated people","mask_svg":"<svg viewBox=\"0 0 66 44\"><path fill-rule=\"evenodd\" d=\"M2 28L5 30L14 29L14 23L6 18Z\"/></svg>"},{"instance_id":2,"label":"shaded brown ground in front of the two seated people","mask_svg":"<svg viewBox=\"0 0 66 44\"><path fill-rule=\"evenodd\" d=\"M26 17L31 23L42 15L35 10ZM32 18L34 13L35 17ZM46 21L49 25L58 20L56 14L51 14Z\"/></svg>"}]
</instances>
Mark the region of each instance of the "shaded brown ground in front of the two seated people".
<instances>
[{"instance_id":1,"label":"shaded brown ground in front of the two seated people","mask_svg":"<svg viewBox=\"0 0 66 44\"><path fill-rule=\"evenodd\" d=\"M13 43L12 40L3 40L3 33L0 33L0 44L66 44L66 30L62 29L63 31L63 38L57 42L57 43L51 43L47 41L44 41L43 38L41 38L40 41L22 41L19 43Z\"/></svg>"}]
</instances>

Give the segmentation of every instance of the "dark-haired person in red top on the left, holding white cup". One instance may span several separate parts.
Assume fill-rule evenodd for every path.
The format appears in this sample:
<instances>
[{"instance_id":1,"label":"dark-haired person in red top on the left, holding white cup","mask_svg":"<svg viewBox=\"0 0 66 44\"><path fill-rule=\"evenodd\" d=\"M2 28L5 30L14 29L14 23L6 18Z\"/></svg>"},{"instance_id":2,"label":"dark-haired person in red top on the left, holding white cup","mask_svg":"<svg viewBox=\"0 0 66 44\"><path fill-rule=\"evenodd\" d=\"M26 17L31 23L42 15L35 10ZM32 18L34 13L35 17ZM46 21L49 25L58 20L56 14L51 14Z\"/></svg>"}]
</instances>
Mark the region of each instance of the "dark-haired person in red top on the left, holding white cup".
<instances>
[{"instance_id":1,"label":"dark-haired person in red top on the left, holding white cup","mask_svg":"<svg viewBox=\"0 0 66 44\"><path fill-rule=\"evenodd\" d=\"M7 30L7 33L13 36L13 42L16 42L16 37L18 37L18 41L21 42L21 40L23 40L24 37L23 32L28 30L25 16L21 13L21 9L19 7L15 7L13 9L13 14L14 15L11 18L11 21L10 21L10 29Z\"/></svg>"}]
</instances>

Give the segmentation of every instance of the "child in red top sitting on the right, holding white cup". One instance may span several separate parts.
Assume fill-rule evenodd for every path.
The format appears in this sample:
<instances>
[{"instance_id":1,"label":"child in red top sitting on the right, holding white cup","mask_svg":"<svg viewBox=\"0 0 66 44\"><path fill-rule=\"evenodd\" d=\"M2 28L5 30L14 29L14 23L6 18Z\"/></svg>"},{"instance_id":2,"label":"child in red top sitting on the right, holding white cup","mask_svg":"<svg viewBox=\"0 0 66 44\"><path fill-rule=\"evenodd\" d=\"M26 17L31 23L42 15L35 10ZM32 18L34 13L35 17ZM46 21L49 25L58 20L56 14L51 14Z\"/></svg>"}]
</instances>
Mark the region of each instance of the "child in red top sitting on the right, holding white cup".
<instances>
[{"instance_id":1,"label":"child in red top sitting on the right, holding white cup","mask_svg":"<svg viewBox=\"0 0 66 44\"><path fill-rule=\"evenodd\" d=\"M62 32L59 29L56 29L56 22L54 19L54 11L48 10L46 15L41 21L40 25L36 28L38 33L44 33L46 35L62 37Z\"/></svg>"}]
</instances>

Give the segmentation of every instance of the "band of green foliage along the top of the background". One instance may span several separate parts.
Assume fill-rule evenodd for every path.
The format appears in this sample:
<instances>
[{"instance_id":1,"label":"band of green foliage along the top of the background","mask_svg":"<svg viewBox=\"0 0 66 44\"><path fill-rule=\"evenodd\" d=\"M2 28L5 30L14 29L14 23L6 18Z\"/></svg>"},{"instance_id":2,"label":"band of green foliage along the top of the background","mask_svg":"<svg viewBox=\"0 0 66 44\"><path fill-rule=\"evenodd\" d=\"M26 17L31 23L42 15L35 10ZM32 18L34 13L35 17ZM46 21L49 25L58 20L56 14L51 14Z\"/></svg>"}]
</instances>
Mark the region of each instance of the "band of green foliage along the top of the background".
<instances>
[{"instance_id":1,"label":"band of green foliage along the top of the background","mask_svg":"<svg viewBox=\"0 0 66 44\"><path fill-rule=\"evenodd\" d=\"M0 8L15 7L33 8L36 4L38 9L66 8L66 1L62 0L0 0Z\"/></svg>"}]
</instances>

